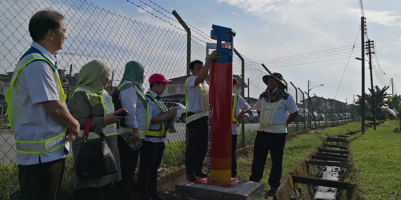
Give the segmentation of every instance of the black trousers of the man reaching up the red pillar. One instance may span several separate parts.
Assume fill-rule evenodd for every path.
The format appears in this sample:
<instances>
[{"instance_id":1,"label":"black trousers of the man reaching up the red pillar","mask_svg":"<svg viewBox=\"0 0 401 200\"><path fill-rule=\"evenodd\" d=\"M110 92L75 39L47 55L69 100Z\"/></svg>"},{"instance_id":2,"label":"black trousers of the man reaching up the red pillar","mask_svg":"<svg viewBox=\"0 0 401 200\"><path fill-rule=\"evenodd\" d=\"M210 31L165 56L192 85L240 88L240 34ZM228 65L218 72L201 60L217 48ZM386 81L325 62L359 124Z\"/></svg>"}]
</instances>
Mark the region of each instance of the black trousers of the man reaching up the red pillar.
<instances>
[{"instance_id":1,"label":"black trousers of the man reaching up the red pillar","mask_svg":"<svg viewBox=\"0 0 401 200\"><path fill-rule=\"evenodd\" d=\"M188 116L191 114L188 112ZM207 153L208 116L204 116L186 124L189 130L188 145L185 151L186 173L201 172L203 160Z\"/></svg>"}]
</instances>

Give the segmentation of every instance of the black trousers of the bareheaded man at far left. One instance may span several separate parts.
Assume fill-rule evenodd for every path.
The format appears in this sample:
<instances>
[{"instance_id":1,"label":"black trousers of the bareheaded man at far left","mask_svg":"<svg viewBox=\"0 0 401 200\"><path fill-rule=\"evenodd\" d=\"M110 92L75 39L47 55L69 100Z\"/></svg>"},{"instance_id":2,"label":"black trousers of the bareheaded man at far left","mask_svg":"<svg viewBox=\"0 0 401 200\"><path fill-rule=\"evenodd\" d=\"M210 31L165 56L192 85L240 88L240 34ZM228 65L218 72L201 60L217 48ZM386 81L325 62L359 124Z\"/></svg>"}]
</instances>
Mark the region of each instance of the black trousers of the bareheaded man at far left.
<instances>
[{"instance_id":1,"label":"black trousers of the bareheaded man at far left","mask_svg":"<svg viewBox=\"0 0 401 200\"><path fill-rule=\"evenodd\" d=\"M63 180L65 158L18 165L20 200L55 200Z\"/></svg>"}]
</instances>

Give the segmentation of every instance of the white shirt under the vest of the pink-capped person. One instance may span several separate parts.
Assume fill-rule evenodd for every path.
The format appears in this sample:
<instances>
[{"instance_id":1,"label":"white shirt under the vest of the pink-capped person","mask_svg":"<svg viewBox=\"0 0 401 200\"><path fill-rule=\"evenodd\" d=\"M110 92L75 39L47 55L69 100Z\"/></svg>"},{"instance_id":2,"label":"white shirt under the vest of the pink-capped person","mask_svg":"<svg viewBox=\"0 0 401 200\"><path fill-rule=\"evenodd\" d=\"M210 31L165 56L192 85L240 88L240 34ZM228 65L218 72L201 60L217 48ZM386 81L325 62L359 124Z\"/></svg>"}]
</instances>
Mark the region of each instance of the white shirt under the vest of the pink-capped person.
<instances>
[{"instance_id":1,"label":"white shirt under the vest of the pink-capped person","mask_svg":"<svg viewBox=\"0 0 401 200\"><path fill-rule=\"evenodd\" d=\"M152 90L148 90L149 94L152 95L154 98L158 96L156 93L154 93ZM152 117L159 117L162 114L162 109L156 104L156 102L150 100L148 97L146 97L146 100L148 101L148 110L149 110L149 120L152 121ZM160 105L163 105L162 99L157 100ZM158 130L162 127L162 123L157 123L157 124L150 124L149 130ZM167 128L167 127L166 127ZM166 142L166 138L155 138L155 137L145 137L145 141L150 141L150 142Z\"/></svg>"}]
</instances>

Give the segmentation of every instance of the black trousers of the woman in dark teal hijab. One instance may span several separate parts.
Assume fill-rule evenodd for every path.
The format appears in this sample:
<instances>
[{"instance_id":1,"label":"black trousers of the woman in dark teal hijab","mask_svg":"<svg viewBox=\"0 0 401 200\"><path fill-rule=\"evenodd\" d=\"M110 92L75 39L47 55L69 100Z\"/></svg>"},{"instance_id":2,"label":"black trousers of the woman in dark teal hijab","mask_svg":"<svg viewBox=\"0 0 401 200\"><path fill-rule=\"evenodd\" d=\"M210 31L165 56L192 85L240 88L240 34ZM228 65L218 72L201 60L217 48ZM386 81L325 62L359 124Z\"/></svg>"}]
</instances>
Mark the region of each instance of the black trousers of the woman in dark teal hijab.
<instances>
[{"instance_id":1,"label":"black trousers of the woman in dark teal hijab","mask_svg":"<svg viewBox=\"0 0 401 200\"><path fill-rule=\"evenodd\" d=\"M117 144L120 155L121 180L113 183L111 194L116 200L132 200L135 189L134 174L142 146L133 151L121 136L117 137Z\"/></svg>"}]
</instances>

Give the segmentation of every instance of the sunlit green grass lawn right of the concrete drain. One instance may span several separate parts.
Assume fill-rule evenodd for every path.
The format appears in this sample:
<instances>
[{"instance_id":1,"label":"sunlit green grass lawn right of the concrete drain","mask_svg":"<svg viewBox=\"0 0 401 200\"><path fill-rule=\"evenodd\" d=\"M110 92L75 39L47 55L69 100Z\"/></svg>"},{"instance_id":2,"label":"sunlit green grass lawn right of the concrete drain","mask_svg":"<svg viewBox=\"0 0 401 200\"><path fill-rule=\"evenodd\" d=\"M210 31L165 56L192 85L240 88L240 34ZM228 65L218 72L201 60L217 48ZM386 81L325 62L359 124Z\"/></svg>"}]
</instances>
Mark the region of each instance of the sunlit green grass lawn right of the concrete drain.
<instances>
[{"instance_id":1,"label":"sunlit green grass lawn right of the concrete drain","mask_svg":"<svg viewBox=\"0 0 401 200\"><path fill-rule=\"evenodd\" d=\"M395 128L397 124L391 121L348 138L359 172L354 183L365 199L400 199L401 132L393 132Z\"/></svg>"}]
</instances>

